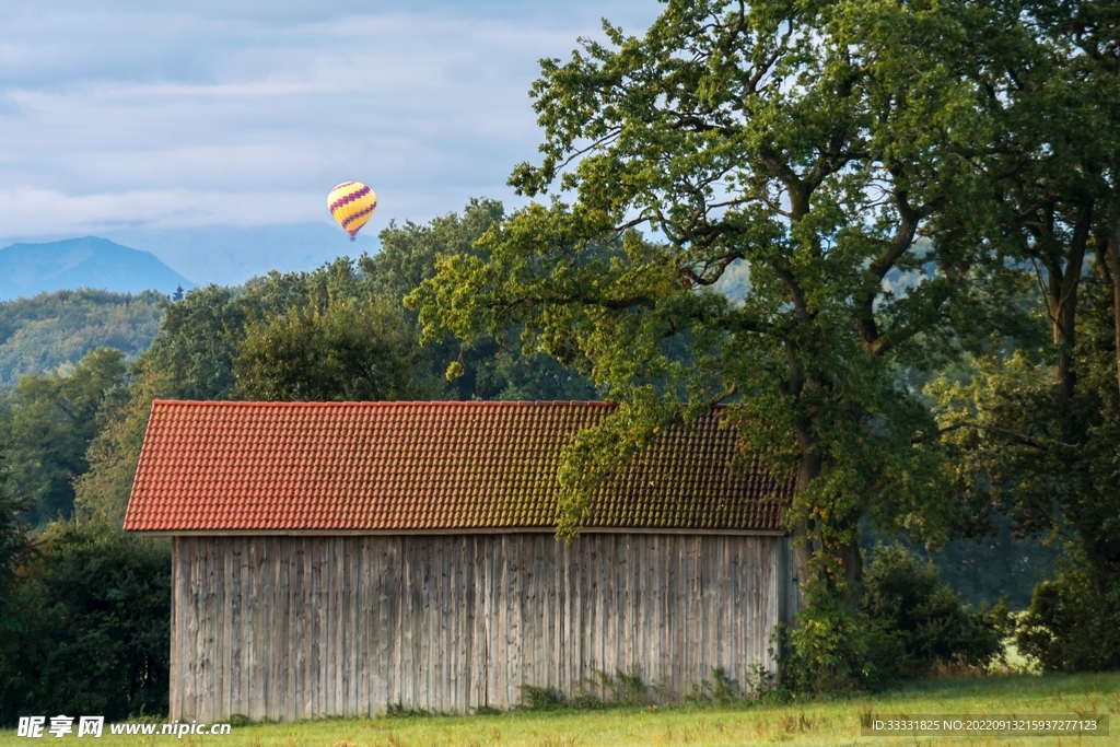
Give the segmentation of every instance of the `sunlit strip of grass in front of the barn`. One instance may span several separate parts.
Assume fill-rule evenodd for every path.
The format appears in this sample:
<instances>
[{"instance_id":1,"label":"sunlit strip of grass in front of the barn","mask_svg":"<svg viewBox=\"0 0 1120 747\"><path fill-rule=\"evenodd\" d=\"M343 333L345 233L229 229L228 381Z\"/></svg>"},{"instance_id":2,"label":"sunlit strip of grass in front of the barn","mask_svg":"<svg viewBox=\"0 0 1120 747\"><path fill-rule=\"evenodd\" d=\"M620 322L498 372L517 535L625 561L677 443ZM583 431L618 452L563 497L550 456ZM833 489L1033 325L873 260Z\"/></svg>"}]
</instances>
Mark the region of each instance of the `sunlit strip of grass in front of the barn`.
<instances>
[{"instance_id":1,"label":"sunlit strip of grass in front of the barn","mask_svg":"<svg viewBox=\"0 0 1120 747\"><path fill-rule=\"evenodd\" d=\"M962 745L1120 744L1120 673L988 676L922 682L874 698L744 708L676 707L601 711L516 711L501 716L325 719L237 727L228 736L111 736L99 747L623 747L628 745L932 745L944 737L862 737L860 716L1108 715L1108 737L959 737ZM62 740L44 735L47 744ZM0 747L36 744L0 731Z\"/></svg>"}]
</instances>

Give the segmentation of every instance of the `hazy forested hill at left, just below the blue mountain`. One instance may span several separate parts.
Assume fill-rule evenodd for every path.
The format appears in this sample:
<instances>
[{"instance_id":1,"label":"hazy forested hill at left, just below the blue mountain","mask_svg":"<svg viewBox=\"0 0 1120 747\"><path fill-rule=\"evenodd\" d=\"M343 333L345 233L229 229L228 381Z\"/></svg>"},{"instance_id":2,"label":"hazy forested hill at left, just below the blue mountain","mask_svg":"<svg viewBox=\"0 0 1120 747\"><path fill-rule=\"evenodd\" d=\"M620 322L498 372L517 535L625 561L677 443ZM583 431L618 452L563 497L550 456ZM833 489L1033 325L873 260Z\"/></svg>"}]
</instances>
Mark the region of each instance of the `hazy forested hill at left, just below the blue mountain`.
<instances>
[{"instance_id":1,"label":"hazy forested hill at left, just below the blue mountain","mask_svg":"<svg viewBox=\"0 0 1120 747\"><path fill-rule=\"evenodd\" d=\"M155 291L90 289L0 301L0 384L76 364L99 347L136 357L156 337L166 307Z\"/></svg>"}]
</instances>

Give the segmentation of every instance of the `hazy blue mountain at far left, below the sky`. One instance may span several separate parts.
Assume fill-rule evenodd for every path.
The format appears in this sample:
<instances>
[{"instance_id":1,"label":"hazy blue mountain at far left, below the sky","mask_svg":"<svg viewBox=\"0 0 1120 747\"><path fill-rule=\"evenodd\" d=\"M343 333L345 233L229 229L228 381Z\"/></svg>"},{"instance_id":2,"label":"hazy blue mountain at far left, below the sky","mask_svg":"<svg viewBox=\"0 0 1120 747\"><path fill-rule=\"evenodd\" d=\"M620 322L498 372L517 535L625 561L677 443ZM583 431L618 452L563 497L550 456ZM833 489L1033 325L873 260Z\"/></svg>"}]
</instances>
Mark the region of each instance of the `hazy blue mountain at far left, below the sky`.
<instances>
[{"instance_id":1,"label":"hazy blue mountain at far left, below the sky","mask_svg":"<svg viewBox=\"0 0 1120 747\"><path fill-rule=\"evenodd\" d=\"M0 249L0 300L44 291L97 288L122 293L195 287L155 254L85 236Z\"/></svg>"}]
</instances>

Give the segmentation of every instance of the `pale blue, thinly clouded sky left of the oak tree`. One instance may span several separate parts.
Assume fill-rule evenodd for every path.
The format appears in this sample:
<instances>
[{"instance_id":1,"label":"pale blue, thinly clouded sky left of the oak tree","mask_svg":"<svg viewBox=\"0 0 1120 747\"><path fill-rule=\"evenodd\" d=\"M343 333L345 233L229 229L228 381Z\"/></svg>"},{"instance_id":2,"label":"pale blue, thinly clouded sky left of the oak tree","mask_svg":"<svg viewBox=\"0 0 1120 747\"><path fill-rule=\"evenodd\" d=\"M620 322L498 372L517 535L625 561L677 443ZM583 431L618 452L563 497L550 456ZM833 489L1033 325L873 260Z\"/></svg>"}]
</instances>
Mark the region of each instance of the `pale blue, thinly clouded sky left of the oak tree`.
<instances>
[{"instance_id":1,"label":"pale blue, thinly clouded sky left of the oak tree","mask_svg":"<svg viewBox=\"0 0 1120 747\"><path fill-rule=\"evenodd\" d=\"M515 204L536 60L659 10L0 0L0 236L323 222L346 179L379 194L368 233L472 196Z\"/></svg>"}]
</instances>

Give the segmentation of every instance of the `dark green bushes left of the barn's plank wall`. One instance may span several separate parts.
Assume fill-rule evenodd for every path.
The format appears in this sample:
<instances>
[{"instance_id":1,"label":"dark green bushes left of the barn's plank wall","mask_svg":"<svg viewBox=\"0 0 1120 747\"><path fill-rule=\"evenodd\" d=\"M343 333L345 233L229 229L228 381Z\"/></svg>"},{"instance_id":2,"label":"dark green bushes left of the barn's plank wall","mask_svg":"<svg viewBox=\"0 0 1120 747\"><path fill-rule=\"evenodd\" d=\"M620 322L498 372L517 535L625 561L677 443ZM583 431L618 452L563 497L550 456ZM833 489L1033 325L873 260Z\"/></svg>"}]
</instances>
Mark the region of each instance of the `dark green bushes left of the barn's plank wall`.
<instances>
[{"instance_id":1,"label":"dark green bushes left of the barn's plank wall","mask_svg":"<svg viewBox=\"0 0 1120 747\"><path fill-rule=\"evenodd\" d=\"M166 541L58 522L19 569L0 644L0 723L36 713L121 720L167 709Z\"/></svg>"}]
</instances>

